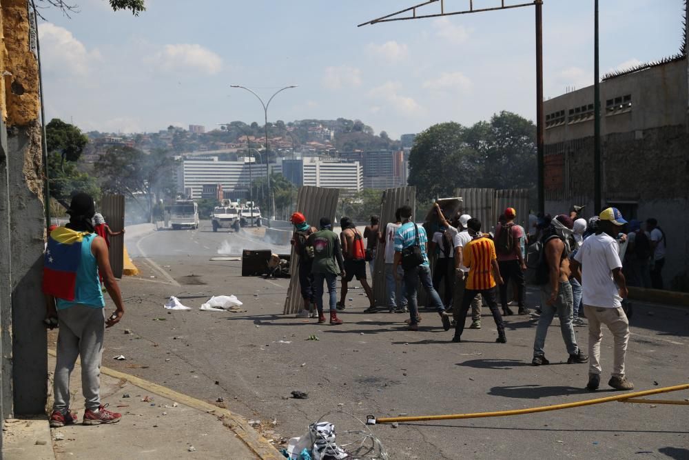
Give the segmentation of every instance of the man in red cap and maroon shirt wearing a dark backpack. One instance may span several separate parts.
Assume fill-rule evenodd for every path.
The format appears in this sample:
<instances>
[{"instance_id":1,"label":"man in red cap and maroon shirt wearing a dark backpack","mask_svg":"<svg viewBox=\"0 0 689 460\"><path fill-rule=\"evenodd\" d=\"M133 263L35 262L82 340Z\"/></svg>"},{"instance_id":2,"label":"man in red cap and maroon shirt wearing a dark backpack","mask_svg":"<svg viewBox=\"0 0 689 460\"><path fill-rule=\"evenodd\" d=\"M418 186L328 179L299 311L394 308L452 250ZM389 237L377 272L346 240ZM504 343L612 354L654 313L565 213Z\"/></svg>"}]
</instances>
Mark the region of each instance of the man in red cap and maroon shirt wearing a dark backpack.
<instances>
[{"instance_id":1,"label":"man in red cap and maroon shirt wearing a dark backpack","mask_svg":"<svg viewBox=\"0 0 689 460\"><path fill-rule=\"evenodd\" d=\"M504 223L498 223L495 228L495 252L497 252L497 263L500 266L500 274L504 283L500 285L500 303L502 303L502 314L508 316L514 314L507 305L507 285L512 279L517 285L517 302L519 314L527 314L524 306L526 297L526 286L524 284L524 253L521 248L521 241L524 238L524 229L515 223L517 212L514 208L507 208L502 214Z\"/></svg>"}]
</instances>

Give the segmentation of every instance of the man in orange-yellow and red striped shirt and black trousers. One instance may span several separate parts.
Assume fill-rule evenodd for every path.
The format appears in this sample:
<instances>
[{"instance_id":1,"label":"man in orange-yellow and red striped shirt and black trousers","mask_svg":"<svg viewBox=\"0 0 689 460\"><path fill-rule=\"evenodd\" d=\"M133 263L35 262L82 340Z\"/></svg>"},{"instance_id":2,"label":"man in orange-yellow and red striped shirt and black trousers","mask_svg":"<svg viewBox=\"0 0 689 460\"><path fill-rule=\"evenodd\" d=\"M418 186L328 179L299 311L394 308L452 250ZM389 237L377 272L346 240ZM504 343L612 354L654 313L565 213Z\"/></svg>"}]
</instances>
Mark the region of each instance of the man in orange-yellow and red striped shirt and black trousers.
<instances>
[{"instance_id":1,"label":"man in orange-yellow and red striped shirt and black trousers","mask_svg":"<svg viewBox=\"0 0 689 460\"><path fill-rule=\"evenodd\" d=\"M500 310L497 308L496 286L502 284L502 277L500 276L500 267L497 265L495 244L493 240L481 233L480 220L469 219L466 226L469 228L469 234L473 236L473 239L464 246L462 252L462 264L469 268L469 277L466 279L462 308L460 308L459 317L455 323L455 337L452 341L462 341L466 312L476 294L482 294L491 309L495 326L497 326L497 339L495 341L506 343L505 326Z\"/></svg>"}]
</instances>

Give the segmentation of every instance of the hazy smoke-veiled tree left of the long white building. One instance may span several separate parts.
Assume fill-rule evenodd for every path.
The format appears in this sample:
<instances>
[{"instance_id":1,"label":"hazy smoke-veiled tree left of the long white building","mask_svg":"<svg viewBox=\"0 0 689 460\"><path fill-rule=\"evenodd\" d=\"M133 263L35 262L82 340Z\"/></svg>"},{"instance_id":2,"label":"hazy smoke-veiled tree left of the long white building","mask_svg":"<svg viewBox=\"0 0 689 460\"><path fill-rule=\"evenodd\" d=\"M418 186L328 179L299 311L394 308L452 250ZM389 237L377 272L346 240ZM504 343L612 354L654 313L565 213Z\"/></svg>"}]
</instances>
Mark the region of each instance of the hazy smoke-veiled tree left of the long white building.
<instances>
[{"instance_id":1,"label":"hazy smoke-veiled tree left of the long white building","mask_svg":"<svg viewBox=\"0 0 689 460\"><path fill-rule=\"evenodd\" d=\"M103 179L103 191L124 194L153 221L154 203L161 197L174 197L174 159L165 150L145 154L127 146L110 148L96 161L96 174Z\"/></svg>"}]
</instances>

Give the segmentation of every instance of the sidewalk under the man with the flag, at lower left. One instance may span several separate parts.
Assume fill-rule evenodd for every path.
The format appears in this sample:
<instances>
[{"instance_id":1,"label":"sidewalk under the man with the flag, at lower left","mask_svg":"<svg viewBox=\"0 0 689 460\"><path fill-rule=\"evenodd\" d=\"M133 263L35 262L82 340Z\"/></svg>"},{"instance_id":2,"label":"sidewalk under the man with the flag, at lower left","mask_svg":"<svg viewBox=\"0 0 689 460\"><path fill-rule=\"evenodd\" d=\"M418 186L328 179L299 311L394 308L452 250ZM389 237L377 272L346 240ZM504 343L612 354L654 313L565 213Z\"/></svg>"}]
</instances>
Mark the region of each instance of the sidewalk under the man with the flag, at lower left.
<instances>
[{"instance_id":1,"label":"sidewalk under the man with the flag, at lower left","mask_svg":"<svg viewBox=\"0 0 689 460\"><path fill-rule=\"evenodd\" d=\"M54 366L55 358L49 354L48 368L52 370ZM72 410L77 412L79 424L49 429L47 418L10 423L4 458L176 459L187 455L203 459L284 458L246 420L229 410L107 368L101 368L101 401L109 404L109 410L120 412L122 420L113 425L83 426L80 375L77 364L70 389ZM52 387L48 399L52 404ZM32 427L23 433L14 428L28 423ZM48 430L52 436L47 436ZM9 432L12 434L7 435ZM48 447L52 438L54 457L45 445L36 445L39 437L48 439ZM8 438L13 441L7 443Z\"/></svg>"}]
</instances>

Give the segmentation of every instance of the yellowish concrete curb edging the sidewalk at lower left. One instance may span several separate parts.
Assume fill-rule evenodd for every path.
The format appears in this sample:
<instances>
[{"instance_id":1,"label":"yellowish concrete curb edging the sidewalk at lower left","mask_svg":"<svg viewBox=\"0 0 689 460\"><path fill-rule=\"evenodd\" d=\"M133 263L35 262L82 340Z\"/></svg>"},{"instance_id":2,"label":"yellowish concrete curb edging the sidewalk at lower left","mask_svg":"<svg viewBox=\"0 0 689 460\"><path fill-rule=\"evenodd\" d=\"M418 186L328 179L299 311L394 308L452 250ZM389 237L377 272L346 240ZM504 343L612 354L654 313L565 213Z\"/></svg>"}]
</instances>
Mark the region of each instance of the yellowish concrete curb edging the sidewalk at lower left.
<instances>
[{"instance_id":1,"label":"yellowish concrete curb edging the sidewalk at lower left","mask_svg":"<svg viewBox=\"0 0 689 460\"><path fill-rule=\"evenodd\" d=\"M55 350L48 349L48 354L51 356L56 356ZM211 403L206 401L201 401L194 397L188 396L180 392L176 392L170 388L167 388L158 383L153 383L145 379L141 379L132 374L126 374L125 372L120 372L119 370L114 370L101 366L101 372L107 376L113 377L114 379L126 380L134 386L143 388L148 392L158 394L158 396L165 397L167 399L172 399L173 401L178 401L179 403L189 406L196 410L202 412L207 412L218 417L218 420L223 422L227 428L232 430L239 439L241 439L245 445L256 454L261 460L284 460L285 457L267 441L263 436L260 435L254 428L252 428L247 420L240 415L234 414L227 409L218 408Z\"/></svg>"}]
</instances>

